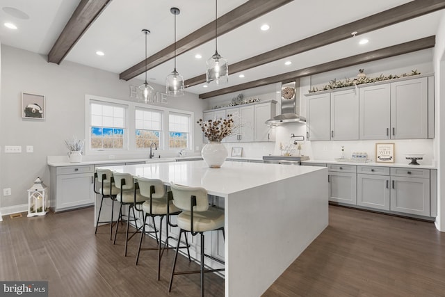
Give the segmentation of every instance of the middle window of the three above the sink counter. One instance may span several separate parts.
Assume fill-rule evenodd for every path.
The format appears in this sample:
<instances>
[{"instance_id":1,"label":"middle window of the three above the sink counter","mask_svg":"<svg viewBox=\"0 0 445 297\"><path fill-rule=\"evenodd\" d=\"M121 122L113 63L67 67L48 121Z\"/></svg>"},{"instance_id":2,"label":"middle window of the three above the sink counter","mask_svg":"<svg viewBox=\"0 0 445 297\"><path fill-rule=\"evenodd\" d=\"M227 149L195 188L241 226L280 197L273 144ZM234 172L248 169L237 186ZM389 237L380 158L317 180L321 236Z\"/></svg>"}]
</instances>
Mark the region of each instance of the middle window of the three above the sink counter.
<instances>
[{"instance_id":1,"label":"middle window of the three above the sink counter","mask_svg":"<svg viewBox=\"0 0 445 297\"><path fill-rule=\"evenodd\" d=\"M136 109L136 149L147 148L156 143L161 148L162 113L161 111Z\"/></svg>"}]
</instances>

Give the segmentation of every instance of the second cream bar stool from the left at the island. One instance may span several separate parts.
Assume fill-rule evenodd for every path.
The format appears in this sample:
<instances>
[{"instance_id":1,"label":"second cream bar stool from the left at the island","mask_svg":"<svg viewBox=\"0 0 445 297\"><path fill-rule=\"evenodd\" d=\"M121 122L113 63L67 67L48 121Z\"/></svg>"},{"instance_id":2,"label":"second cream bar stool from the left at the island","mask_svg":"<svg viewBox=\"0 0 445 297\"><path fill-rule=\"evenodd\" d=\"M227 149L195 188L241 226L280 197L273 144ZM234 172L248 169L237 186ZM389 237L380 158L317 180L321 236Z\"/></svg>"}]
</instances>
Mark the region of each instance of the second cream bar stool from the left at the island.
<instances>
[{"instance_id":1,"label":"second cream bar stool from the left at the island","mask_svg":"<svg viewBox=\"0 0 445 297\"><path fill-rule=\"evenodd\" d=\"M113 172L114 181L116 188L120 189L118 195L116 195L116 200L120 202L119 209L119 218L116 223L116 229L114 234L113 244L116 243L116 237L118 236L118 227L119 222L122 223L122 206L128 205L128 213L127 213L127 232L125 232L125 251L124 256L127 257L127 246L128 241L140 230L142 227L138 227L136 214L134 213L134 206L136 204L142 204L145 200L149 199L140 195L139 190L135 186L135 182L133 176L129 173L121 173L121 172ZM133 211L133 218L130 217L130 211ZM136 231L128 236L130 221L134 221L134 225L136 226Z\"/></svg>"}]
</instances>

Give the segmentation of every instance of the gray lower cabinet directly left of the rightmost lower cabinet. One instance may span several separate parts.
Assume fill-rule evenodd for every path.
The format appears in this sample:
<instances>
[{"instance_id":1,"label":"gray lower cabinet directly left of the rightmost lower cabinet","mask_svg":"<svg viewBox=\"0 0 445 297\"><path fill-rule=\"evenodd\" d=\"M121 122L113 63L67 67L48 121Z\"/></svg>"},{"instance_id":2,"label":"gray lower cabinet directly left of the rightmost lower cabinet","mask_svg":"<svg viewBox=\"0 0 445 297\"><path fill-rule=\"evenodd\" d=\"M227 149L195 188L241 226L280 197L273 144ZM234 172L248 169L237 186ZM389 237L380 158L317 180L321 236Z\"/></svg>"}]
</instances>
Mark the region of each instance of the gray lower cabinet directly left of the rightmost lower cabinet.
<instances>
[{"instance_id":1,"label":"gray lower cabinet directly left of the rightmost lower cabinet","mask_svg":"<svg viewBox=\"0 0 445 297\"><path fill-rule=\"evenodd\" d=\"M389 210L389 168L357 166L357 205Z\"/></svg>"}]
</instances>

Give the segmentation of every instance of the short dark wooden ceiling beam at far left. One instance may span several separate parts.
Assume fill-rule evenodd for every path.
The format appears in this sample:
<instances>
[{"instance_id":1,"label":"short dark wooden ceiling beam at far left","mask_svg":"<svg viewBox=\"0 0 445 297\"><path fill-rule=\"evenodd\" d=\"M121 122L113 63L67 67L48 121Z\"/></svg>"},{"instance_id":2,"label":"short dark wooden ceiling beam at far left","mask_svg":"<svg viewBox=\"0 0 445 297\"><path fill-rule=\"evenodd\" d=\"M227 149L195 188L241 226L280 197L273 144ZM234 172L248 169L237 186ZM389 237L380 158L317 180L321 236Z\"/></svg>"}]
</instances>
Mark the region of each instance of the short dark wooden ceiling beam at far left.
<instances>
[{"instance_id":1,"label":"short dark wooden ceiling beam at far left","mask_svg":"<svg viewBox=\"0 0 445 297\"><path fill-rule=\"evenodd\" d=\"M48 62L60 64L88 27L111 0L81 0L48 54Z\"/></svg>"}]
</instances>

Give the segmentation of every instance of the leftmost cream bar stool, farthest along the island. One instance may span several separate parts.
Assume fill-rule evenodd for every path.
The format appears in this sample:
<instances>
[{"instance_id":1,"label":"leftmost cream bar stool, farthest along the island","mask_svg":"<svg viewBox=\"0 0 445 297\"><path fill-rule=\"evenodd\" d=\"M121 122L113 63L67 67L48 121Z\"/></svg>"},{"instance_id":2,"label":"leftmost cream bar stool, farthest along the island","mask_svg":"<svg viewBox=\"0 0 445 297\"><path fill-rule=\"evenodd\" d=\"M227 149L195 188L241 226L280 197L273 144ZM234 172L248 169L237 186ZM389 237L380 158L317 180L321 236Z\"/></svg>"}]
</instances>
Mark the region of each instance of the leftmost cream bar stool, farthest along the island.
<instances>
[{"instance_id":1,"label":"leftmost cream bar stool, farthest along the island","mask_svg":"<svg viewBox=\"0 0 445 297\"><path fill-rule=\"evenodd\" d=\"M99 189L96 188L96 181L99 182L101 185ZM96 194L102 195L100 200L99 214L97 215L95 234L97 233L97 227L99 227L100 223L110 223L110 240L111 240L113 235L113 223L114 223L113 221L114 202L116 200L116 195L118 195L119 193L119 189L116 188L114 185L113 172L111 170L96 169L93 191L95 191ZM104 198L111 199L111 218L110 220L99 221L100 214L102 212L102 204L104 203Z\"/></svg>"}]
</instances>

